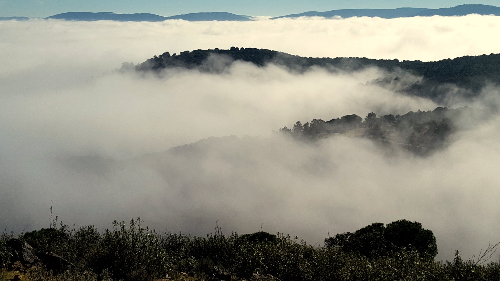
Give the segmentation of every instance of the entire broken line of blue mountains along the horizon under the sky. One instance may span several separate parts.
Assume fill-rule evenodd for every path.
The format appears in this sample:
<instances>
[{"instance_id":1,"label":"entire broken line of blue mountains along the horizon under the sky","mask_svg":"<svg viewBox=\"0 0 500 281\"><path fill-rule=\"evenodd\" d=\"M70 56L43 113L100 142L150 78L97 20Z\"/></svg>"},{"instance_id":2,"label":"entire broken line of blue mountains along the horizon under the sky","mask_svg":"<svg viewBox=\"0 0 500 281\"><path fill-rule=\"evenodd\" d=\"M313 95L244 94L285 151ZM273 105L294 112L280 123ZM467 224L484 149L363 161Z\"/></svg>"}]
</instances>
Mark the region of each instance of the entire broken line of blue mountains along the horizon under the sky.
<instances>
[{"instance_id":1,"label":"entire broken line of blue mountains along the horizon under the sky","mask_svg":"<svg viewBox=\"0 0 500 281\"><path fill-rule=\"evenodd\" d=\"M478 14L494 14L500 15L500 7L481 5L481 4L464 4L451 8L395 8L395 9L338 9L330 11L306 11L302 13L288 14L272 17L271 19L282 17L299 17L299 16L324 16L324 17L351 17L351 16L378 16L382 18L395 17L410 17L410 16L432 16L432 15L466 15L470 13ZM201 20L237 20L249 21L255 20L256 17L248 15L238 15L230 12L194 12L186 14L178 14L172 16L161 16L152 13L114 13L114 12L82 12L72 11L51 15L45 18L56 18L64 20L116 20L116 21L163 21L166 19L183 19L188 21ZM0 20L27 20L25 16L8 16L0 17Z\"/></svg>"}]
</instances>

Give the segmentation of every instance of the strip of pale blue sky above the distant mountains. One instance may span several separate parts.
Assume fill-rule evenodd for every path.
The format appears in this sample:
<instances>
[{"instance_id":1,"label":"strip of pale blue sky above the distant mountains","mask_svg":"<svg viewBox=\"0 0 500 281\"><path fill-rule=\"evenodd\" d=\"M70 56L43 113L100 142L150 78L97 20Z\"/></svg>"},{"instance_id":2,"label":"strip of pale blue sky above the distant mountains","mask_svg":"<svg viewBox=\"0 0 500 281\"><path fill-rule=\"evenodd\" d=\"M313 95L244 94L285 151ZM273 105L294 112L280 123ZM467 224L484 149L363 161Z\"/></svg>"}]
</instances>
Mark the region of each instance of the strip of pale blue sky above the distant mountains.
<instances>
[{"instance_id":1,"label":"strip of pale blue sky above the distant mountains","mask_svg":"<svg viewBox=\"0 0 500 281\"><path fill-rule=\"evenodd\" d=\"M500 0L0 0L0 16L45 17L67 11L150 12L174 15L227 11L247 15L285 15L345 8L440 8L459 4L500 6Z\"/></svg>"}]
</instances>

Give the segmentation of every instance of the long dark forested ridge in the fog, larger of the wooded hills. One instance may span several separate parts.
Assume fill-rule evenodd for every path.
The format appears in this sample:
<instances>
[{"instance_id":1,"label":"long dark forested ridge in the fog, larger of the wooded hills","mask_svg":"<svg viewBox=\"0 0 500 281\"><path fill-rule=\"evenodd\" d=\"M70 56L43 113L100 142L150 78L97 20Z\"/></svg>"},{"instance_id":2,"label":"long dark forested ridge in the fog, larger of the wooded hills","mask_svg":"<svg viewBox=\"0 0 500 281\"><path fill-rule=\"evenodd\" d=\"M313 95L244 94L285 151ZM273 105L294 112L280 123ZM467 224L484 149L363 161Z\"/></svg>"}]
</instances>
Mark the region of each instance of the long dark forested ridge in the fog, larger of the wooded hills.
<instances>
[{"instance_id":1,"label":"long dark forested ridge in the fog, larger of the wooded hills","mask_svg":"<svg viewBox=\"0 0 500 281\"><path fill-rule=\"evenodd\" d=\"M221 59L217 59L217 55L223 59L221 57ZM450 85L461 88L456 94L474 96L478 94L486 82L500 83L500 54L493 53L424 62L366 57L302 57L269 49L231 47L230 49L186 50L172 55L169 52L164 52L135 66L123 63L122 68L134 67L139 71L158 71L168 67L185 67L220 72L234 60L252 62L258 66L274 63L284 66L290 71L298 72L305 71L310 66L325 67L332 72L355 71L367 66L377 66L398 74L381 77L385 79L374 82L387 83L399 80L402 78L401 75L405 74L422 76L423 79L416 79L406 84L402 90L410 94L430 97L436 101L445 97ZM400 69L406 70L406 73L401 74Z\"/></svg>"}]
</instances>

